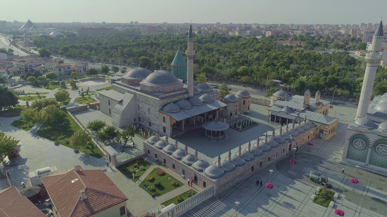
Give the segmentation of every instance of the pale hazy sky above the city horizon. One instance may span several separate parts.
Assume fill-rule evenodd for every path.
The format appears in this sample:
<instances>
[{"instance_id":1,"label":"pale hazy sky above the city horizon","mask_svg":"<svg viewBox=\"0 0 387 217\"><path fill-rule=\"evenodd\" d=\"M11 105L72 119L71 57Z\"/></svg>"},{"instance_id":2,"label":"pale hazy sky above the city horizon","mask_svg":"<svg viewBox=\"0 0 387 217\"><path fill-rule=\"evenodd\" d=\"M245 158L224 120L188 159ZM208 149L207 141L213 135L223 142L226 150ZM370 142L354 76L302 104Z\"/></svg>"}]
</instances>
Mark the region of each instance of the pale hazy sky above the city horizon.
<instances>
[{"instance_id":1,"label":"pale hazy sky above the city horizon","mask_svg":"<svg viewBox=\"0 0 387 217\"><path fill-rule=\"evenodd\" d=\"M4 0L0 20L32 22L378 23L385 0ZM372 7L375 5L375 7ZM23 9L21 9L23 8ZM19 12L17 12L19 11Z\"/></svg>"}]
</instances>

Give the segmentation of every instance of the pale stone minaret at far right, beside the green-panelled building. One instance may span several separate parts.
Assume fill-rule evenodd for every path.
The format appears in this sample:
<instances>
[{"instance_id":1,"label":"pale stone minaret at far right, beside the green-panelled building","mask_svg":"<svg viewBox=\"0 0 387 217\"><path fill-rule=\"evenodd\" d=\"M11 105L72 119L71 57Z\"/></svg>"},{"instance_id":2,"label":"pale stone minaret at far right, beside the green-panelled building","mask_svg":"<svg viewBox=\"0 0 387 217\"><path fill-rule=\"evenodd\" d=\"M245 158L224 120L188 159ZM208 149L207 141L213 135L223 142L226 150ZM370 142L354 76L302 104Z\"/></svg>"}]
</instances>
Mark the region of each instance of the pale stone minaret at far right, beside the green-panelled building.
<instances>
[{"instance_id":1,"label":"pale stone minaret at far right, beside the green-panelled building","mask_svg":"<svg viewBox=\"0 0 387 217\"><path fill-rule=\"evenodd\" d=\"M380 55L380 48L383 42L383 23L380 20L380 24L377 27L375 34L373 34L372 44L368 53L365 55L365 61L367 66L365 68L363 87L361 88L360 100L358 111L356 112L356 119L365 117L368 112L368 105L370 105L370 99L372 95L373 84L375 81L376 70L382 59Z\"/></svg>"}]
</instances>

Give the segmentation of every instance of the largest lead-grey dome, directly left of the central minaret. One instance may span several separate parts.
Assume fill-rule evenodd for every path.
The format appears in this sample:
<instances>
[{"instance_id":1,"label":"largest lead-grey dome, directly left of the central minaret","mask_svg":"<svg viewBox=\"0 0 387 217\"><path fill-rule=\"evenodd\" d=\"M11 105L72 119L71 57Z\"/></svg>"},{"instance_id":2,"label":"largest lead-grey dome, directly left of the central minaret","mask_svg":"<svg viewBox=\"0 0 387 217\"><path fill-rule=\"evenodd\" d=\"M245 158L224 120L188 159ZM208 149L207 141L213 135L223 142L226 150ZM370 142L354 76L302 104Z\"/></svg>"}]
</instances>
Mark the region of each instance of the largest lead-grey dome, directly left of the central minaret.
<instances>
[{"instance_id":1,"label":"largest lead-grey dome, directly left of the central minaret","mask_svg":"<svg viewBox=\"0 0 387 217\"><path fill-rule=\"evenodd\" d=\"M142 80L140 84L147 86L173 86L182 84L182 82L168 71L155 71Z\"/></svg>"}]
</instances>

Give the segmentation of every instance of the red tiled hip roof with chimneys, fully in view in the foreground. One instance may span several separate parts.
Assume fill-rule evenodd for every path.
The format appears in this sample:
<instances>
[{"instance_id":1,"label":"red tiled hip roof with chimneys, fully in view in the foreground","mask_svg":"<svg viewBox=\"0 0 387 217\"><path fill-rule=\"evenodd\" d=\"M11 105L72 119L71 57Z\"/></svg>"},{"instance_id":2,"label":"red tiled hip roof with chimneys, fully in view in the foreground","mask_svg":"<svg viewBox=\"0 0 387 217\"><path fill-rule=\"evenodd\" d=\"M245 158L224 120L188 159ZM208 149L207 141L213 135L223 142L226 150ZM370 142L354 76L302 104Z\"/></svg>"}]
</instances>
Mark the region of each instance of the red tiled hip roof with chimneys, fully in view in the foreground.
<instances>
[{"instance_id":1,"label":"red tiled hip roof with chimneys, fully in view in the foreground","mask_svg":"<svg viewBox=\"0 0 387 217\"><path fill-rule=\"evenodd\" d=\"M102 170L72 169L42 181L58 214L64 217L87 217L128 200ZM84 200L80 199L81 190L86 194Z\"/></svg>"}]
</instances>

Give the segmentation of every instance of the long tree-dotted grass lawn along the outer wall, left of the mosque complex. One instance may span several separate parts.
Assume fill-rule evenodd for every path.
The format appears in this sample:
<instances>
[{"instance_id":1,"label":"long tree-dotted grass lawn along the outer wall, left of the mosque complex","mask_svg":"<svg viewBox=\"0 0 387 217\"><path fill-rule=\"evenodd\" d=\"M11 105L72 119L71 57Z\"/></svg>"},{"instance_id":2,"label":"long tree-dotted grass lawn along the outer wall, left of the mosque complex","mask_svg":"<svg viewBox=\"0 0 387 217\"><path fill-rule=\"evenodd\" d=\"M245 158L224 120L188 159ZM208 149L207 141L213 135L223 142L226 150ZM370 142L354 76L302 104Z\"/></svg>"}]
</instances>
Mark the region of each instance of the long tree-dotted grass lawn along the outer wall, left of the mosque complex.
<instances>
[{"instance_id":1,"label":"long tree-dotted grass lawn along the outer wall, left of the mosque complex","mask_svg":"<svg viewBox=\"0 0 387 217\"><path fill-rule=\"evenodd\" d=\"M43 138L49 139L53 142L57 141L59 144L63 146L70 147L74 149L74 146L71 144L66 144L66 141L70 140L70 137L75 131L80 130L81 128L79 125L75 122L74 119L67 113L66 108L61 108L66 113L65 121L68 124L64 125L46 125L44 124L43 127L39 129L39 131L36 133L36 135L41 136ZM94 156L96 158L102 158L104 154L94 145L94 142L91 140L89 141L91 144L91 151L85 151L85 153L90 154L91 156ZM52 144L54 146L54 144ZM79 150L81 151L81 150ZM82 151L83 152L83 151Z\"/></svg>"}]
</instances>

